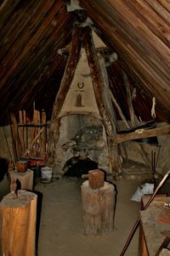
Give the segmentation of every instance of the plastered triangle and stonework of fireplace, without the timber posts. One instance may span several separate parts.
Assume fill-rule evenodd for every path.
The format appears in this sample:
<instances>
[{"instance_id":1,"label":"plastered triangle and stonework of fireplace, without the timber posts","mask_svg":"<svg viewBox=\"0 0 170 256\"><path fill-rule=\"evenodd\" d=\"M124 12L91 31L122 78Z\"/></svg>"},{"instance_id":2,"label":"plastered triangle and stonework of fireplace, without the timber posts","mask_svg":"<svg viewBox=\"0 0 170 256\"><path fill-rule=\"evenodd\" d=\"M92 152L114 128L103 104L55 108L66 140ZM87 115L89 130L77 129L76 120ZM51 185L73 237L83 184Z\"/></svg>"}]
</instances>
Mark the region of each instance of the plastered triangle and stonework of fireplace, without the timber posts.
<instances>
[{"instance_id":1,"label":"plastered triangle and stonework of fireplace, without the timber posts","mask_svg":"<svg viewBox=\"0 0 170 256\"><path fill-rule=\"evenodd\" d=\"M63 174L65 162L72 156L88 157L98 162L99 168L108 169L105 128L99 115L88 60L83 48L59 118L55 173Z\"/></svg>"}]
</instances>

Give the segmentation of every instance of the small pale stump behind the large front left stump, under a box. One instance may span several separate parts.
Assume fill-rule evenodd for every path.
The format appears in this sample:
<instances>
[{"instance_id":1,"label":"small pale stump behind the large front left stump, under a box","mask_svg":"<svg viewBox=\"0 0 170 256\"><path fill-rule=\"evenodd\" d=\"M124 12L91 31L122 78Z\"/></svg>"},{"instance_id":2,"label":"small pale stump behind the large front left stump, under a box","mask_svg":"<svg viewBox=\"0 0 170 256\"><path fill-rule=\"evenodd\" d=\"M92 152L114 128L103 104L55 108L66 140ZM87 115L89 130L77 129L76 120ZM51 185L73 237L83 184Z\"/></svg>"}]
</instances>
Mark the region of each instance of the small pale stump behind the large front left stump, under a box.
<instances>
[{"instance_id":1,"label":"small pale stump behind the large front left stump, under a box","mask_svg":"<svg viewBox=\"0 0 170 256\"><path fill-rule=\"evenodd\" d=\"M10 191L15 191L16 189L16 179L20 180L21 184L21 190L33 190L33 171L30 169L27 169L25 173L18 173L16 170L14 172L11 172L10 174Z\"/></svg>"}]
</instances>

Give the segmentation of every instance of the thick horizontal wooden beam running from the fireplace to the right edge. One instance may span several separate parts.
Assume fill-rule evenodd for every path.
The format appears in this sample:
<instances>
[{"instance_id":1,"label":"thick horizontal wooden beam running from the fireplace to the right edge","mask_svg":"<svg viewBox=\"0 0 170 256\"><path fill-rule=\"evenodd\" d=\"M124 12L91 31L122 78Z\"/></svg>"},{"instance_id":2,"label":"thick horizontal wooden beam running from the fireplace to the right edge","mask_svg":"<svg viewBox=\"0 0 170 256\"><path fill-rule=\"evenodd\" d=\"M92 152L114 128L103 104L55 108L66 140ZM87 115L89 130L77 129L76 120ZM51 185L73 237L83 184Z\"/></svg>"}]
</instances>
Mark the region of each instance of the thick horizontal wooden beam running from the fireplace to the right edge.
<instances>
[{"instance_id":1,"label":"thick horizontal wooden beam running from the fireplace to the right edge","mask_svg":"<svg viewBox=\"0 0 170 256\"><path fill-rule=\"evenodd\" d=\"M155 136L163 136L170 134L170 125L161 128L153 128L149 130L137 129L135 132L130 134L117 134L117 142L122 143L133 139L143 139Z\"/></svg>"}]
</instances>

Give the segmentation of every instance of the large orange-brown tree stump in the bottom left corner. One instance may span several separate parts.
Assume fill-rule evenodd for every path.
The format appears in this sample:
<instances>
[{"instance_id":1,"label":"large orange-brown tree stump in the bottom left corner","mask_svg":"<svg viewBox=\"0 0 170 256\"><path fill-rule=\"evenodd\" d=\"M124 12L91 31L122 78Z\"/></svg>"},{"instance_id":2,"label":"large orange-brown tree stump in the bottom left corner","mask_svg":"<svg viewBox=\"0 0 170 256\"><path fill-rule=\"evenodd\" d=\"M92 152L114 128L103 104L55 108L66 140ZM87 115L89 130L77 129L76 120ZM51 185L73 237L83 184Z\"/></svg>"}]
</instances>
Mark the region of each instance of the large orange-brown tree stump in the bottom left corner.
<instances>
[{"instance_id":1,"label":"large orange-brown tree stump in the bottom left corner","mask_svg":"<svg viewBox=\"0 0 170 256\"><path fill-rule=\"evenodd\" d=\"M37 195L18 191L9 193L0 203L3 255L35 256Z\"/></svg>"}]
</instances>

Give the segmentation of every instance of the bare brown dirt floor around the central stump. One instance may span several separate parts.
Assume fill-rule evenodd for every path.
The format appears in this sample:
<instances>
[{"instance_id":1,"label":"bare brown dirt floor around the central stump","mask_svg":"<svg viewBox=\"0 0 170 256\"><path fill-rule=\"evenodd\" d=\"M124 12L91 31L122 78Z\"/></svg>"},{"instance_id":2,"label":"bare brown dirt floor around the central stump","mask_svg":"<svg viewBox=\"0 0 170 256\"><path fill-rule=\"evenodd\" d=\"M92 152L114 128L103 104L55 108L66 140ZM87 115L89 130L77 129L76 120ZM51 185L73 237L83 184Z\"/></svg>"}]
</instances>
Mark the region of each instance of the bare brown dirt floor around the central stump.
<instances>
[{"instance_id":1,"label":"bare brown dirt floor around the central stump","mask_svg":"<svg viewBox=\"0 0 170 256\"><path fill-rule=\"evenodd\" d=\"M77 179L55 179L36 185L42 191L38 256L119 256L139 217L139 202L130 201L141 179L116 181L115 227L103 236L86 236L83 230L81 185ZM139 230L126 256L138 255Z\"/></svg>"}]
</instances>

